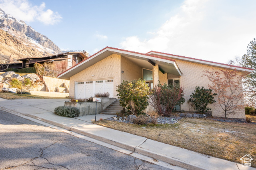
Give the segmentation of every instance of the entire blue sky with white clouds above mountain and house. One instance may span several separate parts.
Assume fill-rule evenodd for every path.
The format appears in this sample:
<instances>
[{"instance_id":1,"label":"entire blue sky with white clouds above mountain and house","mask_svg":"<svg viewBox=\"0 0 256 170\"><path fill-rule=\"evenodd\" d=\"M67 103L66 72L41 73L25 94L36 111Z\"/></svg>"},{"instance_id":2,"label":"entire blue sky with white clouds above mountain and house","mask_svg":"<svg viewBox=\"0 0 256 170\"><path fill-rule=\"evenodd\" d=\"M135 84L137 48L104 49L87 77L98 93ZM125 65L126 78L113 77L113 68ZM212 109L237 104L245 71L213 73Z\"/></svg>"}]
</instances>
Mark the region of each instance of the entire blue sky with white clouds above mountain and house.
<instances>
[{"instance_id":1,"label":"entire blue sky with white clouds above mountain and house","mask_svg":"<svg viewBox=\"0 0 256 170\"><path fill-rule=\"evenodd\" d=\"M226 63L256 38L255 0L0 0L61 49L109 46Z\"/></svg>"}]
</instances>

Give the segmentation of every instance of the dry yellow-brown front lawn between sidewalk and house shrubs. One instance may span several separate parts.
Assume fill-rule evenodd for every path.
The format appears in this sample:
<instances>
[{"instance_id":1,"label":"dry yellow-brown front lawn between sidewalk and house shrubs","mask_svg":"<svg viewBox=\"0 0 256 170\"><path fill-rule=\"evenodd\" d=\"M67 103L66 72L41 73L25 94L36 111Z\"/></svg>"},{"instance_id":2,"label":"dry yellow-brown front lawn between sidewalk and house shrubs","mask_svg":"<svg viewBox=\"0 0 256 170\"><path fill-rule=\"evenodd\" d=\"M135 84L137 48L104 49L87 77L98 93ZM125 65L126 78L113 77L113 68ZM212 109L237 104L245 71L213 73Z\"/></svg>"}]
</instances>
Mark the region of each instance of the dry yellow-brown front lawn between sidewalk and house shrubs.
<instances>
[{"instance_id":1,"label":"dry yellow-brown front lawn between sidewalk and house shrubs","mask_svg":"<svg viewBox=\"0 0 256 170\"><path fill-rule=\"evenodd\" d=\"M183 118L179 123L173 125L133 125L107 120L96 122L96 124L104 127L136 134L232 162L240 163L242 156L250 154L253 158L252 166L256 168L256 125L224 123L206 118Z\"/></svg>"}]
</instances>

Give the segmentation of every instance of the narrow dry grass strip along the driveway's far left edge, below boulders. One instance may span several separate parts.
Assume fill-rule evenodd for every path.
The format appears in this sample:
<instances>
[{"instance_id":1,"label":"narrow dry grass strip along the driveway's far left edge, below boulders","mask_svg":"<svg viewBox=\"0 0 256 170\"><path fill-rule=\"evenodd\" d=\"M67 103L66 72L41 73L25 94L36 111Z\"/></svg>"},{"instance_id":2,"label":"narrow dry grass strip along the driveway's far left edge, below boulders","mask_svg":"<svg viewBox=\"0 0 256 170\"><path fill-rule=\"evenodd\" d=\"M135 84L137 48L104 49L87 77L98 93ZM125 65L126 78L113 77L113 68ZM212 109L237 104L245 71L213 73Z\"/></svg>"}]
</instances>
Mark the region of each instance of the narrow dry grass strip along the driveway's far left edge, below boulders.
<instances>
[{"instance_id":1,"label":"narrow dry grass strip along the driveway's far left edge, below boulders","mask_svg":"<svg viewBox=\"0 0 256 170\"><path fill-rule=\"evenodd\" d=\"M0 93L0 98L13 100L13 99L66 99L64 97L47 97L47 96L36 96L36 95L25 95L15 93Z\"/></svg>"}]
</instances>

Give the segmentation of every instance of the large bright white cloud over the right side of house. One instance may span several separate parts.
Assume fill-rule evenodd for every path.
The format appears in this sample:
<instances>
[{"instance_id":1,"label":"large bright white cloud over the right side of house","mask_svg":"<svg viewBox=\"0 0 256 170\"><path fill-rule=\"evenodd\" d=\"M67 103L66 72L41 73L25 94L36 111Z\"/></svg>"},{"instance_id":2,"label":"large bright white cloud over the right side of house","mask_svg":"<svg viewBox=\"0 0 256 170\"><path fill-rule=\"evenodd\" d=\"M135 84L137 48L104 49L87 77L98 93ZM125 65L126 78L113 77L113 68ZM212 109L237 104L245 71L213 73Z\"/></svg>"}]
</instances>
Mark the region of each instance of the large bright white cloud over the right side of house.
<instances>
[{"instance_id":1,"label":"large bright white cloud over the right side of house","mask_svg":"<svg viewBox=\"0 0 256 170\"><path fill-rule=\"evenodd\" d=\"M256 35L256 23L252 22L256 12L248 9L252 2L246 2L185 0L158 31L147 32L152 38L143 40L134 35L120 45L143 53L154 50L224 63L246 53L247 44Z\"/></svg>"}]
</instances>

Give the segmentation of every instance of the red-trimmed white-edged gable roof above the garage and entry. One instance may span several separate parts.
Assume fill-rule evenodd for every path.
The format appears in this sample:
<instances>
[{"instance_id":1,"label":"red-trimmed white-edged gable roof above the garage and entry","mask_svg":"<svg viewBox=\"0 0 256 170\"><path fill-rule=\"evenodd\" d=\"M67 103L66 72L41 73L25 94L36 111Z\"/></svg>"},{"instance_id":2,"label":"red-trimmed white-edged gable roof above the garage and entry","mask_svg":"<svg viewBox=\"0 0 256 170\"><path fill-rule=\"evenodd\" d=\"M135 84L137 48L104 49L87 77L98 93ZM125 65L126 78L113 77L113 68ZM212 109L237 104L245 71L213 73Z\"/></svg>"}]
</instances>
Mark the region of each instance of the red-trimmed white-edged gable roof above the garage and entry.
<instances>
[{"instance_id":1,"label":"red-trimmed white-edged gable roof above the garage and entry","mask_svg":"<svg viewBox=\"0 0 256 170\"><path fill-rule=\"evenodd\" d=\"M66 71L60 73L58 75L58 78L62 79L69 79L72 75L79 73L86 67L90 67L94 63L97 63L98 61L102 60L105 57L108 57L111 54L119 54L122 56L130 57L131 59L141 59L144 60L145 63L148 63L148 59L154 61L154 63L158 65L162 65L162 63L166 63L166 65L171 66L173 70L176 71L176 74L182 75L180 69L178 68L178 65L176 64L174 59L170 59L168 57L162 57L162 56L157 56L157 55L151 55L151 54L145 54L145 53L138 53L135 51L129 51L125 49L118 49L118 48L113 48L113 47L105 47L102 50L98 51L97 53L91 55L90 57L84 59L80 63L74 65L73 67L70 67ZM83 65L83 67L81 67ZM151 64L150 64L151 65ZM168 69L166 65L162 65L162 69L167 73ZM170 67L169 67L170 69Z\"/></svg>"}]
</instances>

